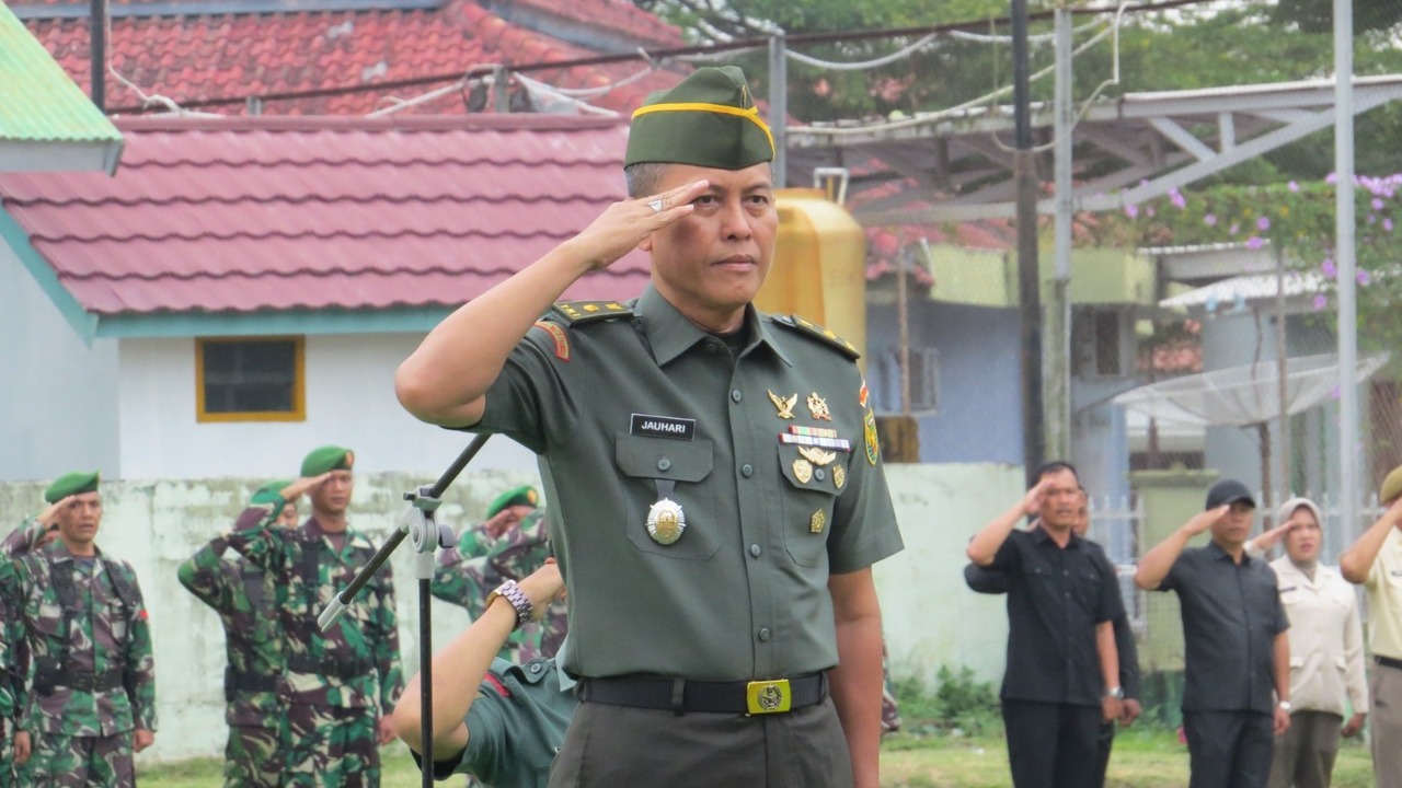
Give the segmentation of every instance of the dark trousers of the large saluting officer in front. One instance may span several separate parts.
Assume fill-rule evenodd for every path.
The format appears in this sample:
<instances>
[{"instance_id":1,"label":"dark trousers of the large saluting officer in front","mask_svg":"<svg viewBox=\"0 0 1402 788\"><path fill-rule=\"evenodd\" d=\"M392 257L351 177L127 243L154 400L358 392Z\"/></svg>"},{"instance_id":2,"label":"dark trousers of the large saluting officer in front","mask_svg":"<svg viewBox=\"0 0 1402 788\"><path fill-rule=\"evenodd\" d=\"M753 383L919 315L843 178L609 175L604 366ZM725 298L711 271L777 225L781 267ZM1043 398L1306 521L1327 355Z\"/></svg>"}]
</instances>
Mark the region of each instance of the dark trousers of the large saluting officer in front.
<instances>
[{"instance_id":1,"label":"dark trousers of the large saluting officer in front","mask_svg":"<svg viewBox=\"0 0 1402 788\"><path fill-rule=\"evenodd\" d=\"M674 714L582 702L551 788L851 788L833 700L787 714Z\"/></svg>"}]
</instances>

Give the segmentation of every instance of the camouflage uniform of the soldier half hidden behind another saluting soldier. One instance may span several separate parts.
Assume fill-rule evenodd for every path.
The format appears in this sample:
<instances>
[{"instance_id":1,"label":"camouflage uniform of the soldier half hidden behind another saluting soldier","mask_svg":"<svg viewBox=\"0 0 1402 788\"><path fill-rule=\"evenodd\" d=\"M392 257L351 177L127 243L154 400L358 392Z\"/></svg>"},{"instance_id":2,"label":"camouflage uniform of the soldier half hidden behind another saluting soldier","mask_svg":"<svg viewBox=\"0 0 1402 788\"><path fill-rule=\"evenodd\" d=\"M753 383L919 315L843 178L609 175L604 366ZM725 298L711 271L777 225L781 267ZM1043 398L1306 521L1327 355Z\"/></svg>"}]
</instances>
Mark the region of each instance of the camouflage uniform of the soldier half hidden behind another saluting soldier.
<instances>
[{"instance_id":1,"label":"camouflage uniform of the soldier half hidden behind another saluting soldier","mask_svg":"<svg viewBox=\"0 0 1402 788\"><path fill-rule=\"evenodd\" d=\"M266 527L282 506L250 506L236 530ZM279 725L287 712L279 681L286 667L272 579L245 559L226 561L229 536L202 547L179 566L179 582L219 613L224 627L226 788L282 785Z\"/></svg>"}]
</instances>

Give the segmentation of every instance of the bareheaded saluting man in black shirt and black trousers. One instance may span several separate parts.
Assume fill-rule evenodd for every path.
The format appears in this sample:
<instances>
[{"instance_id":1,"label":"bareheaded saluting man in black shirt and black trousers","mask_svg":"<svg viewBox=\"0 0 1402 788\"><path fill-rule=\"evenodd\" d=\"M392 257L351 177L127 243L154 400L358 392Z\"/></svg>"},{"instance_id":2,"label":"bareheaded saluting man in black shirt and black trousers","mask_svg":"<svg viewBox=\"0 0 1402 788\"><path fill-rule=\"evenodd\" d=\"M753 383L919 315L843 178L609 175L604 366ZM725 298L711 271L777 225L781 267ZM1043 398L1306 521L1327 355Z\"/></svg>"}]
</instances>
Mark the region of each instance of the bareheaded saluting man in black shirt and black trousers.
<instances>
[{"instance_id":1,"label":"bareheaded saluting man in black shirt and black trousers","mask_svg":"<svg viewBox=\"0 0 1402 788\"><path fill-rule=\"evenodd\" d=\"M1016 788L1092 788L1101 724L1120 715L1113 621L1124 614L1105 551L1077 536L1081 485L1068 463L969 541L969 559L1008 578L1002 719ZM1018 520L1039 515L1030 530Z\"/></svg>"}]
</instances>

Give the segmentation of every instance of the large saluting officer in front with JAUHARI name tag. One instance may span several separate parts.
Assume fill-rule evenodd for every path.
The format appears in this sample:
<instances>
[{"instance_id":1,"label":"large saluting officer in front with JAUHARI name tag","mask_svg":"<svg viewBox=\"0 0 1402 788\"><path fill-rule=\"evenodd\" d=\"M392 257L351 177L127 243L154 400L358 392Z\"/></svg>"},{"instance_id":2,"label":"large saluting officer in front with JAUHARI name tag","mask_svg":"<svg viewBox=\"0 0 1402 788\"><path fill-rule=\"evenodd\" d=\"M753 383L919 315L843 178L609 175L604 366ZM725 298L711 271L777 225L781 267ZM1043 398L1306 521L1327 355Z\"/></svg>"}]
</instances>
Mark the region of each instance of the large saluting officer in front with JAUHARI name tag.
<instances>
[{"instance_id":1,"label":"large saluting officer in front with JAUHARI name tag","mask_svg":"<svg viewBox=\"0 0 1402 788\"><path fill-rule=\"evenodd\" d=\"M634 114L632 198L398 370L421 419L540 454L583 700L552 785L878 784L900 533L855 349L751 304L773 157L740 70L698 69ZM639 299L551 307L635 247Z\"/></svg>"}]
</instances>

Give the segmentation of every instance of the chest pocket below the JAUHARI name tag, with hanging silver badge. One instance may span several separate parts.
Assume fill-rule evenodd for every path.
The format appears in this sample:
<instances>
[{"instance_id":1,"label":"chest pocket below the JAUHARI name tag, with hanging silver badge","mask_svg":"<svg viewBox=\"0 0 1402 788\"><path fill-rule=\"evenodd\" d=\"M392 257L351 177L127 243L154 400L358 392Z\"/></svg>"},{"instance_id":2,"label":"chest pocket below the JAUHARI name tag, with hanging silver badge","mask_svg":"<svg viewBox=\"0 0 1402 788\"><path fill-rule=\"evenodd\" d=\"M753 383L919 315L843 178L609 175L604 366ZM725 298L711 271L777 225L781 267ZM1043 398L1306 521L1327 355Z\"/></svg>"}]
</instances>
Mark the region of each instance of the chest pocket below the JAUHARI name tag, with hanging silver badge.
<instances>
[{"instance_id":1,"label":"chest pocket below the JAUHARI name tag, with hanging silver badge","mask_svg":"<svg viewBox=\"0 0 1402 788\"><path fill-rule=\"evenodd\" d=\"M716 530L733 517L718 517L722 503L708 499L708 488L701 484L715 467L715 453L709 440L673 440L642 435L618 435L614 461L622 474L624 498L628 502L622 529L628 541L644 552L708 561L719 547ZM658 502L658 481L673 482L670 501L681 508L684 527L672 544L662 544L648 531L648 513ZM732 523L736 529L737 524Z\"/></svg>"}]
</instances>

